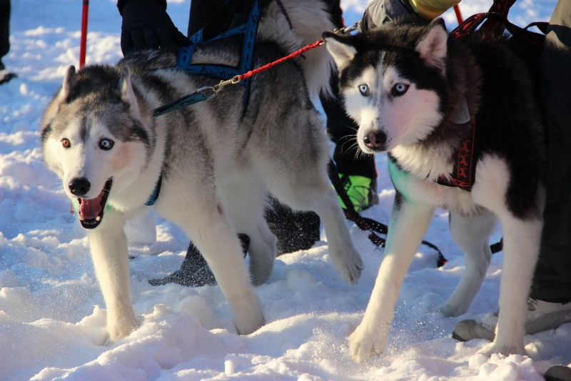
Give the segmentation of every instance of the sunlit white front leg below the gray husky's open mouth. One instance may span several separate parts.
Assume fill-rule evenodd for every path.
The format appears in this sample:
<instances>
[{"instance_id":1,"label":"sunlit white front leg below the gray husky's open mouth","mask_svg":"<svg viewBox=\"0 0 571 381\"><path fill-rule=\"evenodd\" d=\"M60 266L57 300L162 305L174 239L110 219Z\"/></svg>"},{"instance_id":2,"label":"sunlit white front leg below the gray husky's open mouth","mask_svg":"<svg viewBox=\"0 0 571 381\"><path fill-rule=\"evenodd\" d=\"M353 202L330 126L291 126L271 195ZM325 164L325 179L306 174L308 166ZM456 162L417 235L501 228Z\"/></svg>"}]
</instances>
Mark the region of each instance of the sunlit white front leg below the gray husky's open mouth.
<instances>
[{"instance_id":1,"label":"sunlit white front leg below the gray husky's open mouth","mask_svg":"<svg viewBox=\"0 0 571 381\"><path fill-rule=\"evenodd\" d=\"M116 342L137 327L131 304L125 217L108 209L101 224L88 231L91 258L107 307L109 340Z\"/></svg>"}]
</instances>

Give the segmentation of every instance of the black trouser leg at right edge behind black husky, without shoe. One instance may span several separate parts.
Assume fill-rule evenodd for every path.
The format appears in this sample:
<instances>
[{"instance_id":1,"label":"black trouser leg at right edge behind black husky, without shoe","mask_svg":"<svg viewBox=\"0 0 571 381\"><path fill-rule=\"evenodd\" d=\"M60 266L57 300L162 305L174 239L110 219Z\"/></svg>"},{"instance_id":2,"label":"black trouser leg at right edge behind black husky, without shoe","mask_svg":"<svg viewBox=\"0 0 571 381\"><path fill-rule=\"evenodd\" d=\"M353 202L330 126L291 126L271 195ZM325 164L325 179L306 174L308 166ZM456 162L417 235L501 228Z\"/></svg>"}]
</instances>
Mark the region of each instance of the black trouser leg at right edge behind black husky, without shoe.
<instances>
[{"instance_id":1,"label":"black trouser leg at right edge behind black husky, without shoe","mask_svg":"<svg viewBox=\"0 0 571 381\"><path fill-rule=\"evenodd\" d=\"M571 1L559 0L540 59L547 123L547 203L531 297L571 300Z\"/></svg>"}]
</instances>

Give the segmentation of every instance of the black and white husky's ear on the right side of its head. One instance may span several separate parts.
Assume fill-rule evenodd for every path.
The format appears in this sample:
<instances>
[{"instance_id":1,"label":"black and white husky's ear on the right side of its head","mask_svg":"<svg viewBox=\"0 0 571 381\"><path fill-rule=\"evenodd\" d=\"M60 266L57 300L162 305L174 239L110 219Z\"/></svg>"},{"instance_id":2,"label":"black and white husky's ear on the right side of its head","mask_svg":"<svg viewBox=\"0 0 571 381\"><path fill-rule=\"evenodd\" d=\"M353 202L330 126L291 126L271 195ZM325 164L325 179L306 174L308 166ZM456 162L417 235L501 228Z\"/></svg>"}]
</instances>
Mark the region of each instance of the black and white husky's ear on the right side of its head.
<instances>
[{"instance_id":1,"label":"black and white husky's ear on the right side of its head","mask_svg":"<svg viewBox=\"0 0 571 381\"><path fill-rule=\"evenodd\" d=\"M428 25L428 33L416 45L415 50L426 64L445 71L448 31L440 17Z\"/></svg>"}]
</instances>

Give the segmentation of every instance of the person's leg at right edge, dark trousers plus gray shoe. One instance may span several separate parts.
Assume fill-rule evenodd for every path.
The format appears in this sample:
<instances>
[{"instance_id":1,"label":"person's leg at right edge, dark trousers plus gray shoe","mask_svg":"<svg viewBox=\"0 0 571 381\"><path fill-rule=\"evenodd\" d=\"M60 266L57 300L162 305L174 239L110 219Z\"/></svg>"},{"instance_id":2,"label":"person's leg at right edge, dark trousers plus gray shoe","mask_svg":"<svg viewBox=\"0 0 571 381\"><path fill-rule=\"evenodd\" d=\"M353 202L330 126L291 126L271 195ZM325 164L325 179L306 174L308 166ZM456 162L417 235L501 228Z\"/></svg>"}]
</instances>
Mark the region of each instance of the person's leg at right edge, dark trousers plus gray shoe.
<instances>
[{"instance_id":1,"label":"person's leg at right edge, dark trousers plus gray shoe","mask_svg":"<svg viewBox=\"0 0 571 381\"><path fill-rule=\"evenodd\" d=\"M571 322L571 0L559 0L540 58L547 127L547 200L540 257L535 267L525 323L527 334ZM497 318L463 320L453 332L460 341L494 337Z\"/></svg>"}]
</instances>

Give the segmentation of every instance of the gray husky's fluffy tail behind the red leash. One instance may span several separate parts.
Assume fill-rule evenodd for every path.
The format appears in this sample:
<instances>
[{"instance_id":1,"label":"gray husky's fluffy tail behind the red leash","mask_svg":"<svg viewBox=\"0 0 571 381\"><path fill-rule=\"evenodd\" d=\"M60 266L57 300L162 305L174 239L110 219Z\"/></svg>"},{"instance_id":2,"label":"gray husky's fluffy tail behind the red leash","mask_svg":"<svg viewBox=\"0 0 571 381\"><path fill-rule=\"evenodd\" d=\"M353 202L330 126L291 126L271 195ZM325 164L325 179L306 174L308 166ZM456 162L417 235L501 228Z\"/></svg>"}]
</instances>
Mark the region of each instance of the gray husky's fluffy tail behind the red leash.
<instances>
[{"instance_id":1,"label":"gray husky's fluffy tail behind the red leash","mask_svg":"<svg viewBox=\"0 0 571 381\"><path fill-rule=\"evenodd\" d=\"M288 20L278 6L277 1L270 1L264 11L263 19L258 27L258 39L271 39L283 46L288 54L303 46L321 39L323 31L333 31L333 23L327 11L325 1L281 0ZM300 59L303 76L308 86L310 97L315 99L320 92L330 96L330 75L335 68L333 58L323 46L306 51Z\"/></svg>"}]
</instances>

